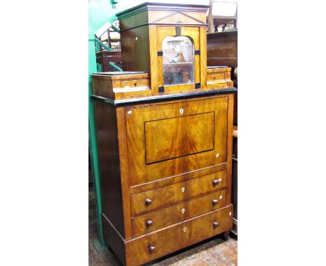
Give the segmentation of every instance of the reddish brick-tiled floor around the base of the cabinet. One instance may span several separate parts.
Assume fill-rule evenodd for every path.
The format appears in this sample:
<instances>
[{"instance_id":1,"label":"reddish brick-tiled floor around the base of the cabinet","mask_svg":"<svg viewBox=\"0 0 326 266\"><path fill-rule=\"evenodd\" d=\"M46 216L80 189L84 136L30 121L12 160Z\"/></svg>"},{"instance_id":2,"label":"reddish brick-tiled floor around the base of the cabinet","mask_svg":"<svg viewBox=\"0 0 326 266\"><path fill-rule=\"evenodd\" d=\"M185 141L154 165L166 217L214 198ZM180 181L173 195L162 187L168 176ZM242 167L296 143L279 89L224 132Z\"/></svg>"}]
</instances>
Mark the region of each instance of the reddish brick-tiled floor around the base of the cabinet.
<instances>
[{"instance_id":1,"label":"reddish brick-tiled floor around the base of the cabinet","mask_svg":"<svg viewBox=\"0 0 326 266\"><path fill-rule=\"evenodd\" d=\"M98 253L93 246L96 240L96 217L95 200L93 188L89 189L88 212L89 212L89 248L88 260L90 266L120 266L118 260L109 250ZM201 242L191 248L183 249L176 253L147 263L146 266L236 266L238 265L238 243L232 237L227 241L219 237L214 237L205 242Z\"/></svg>"}]
</instances>

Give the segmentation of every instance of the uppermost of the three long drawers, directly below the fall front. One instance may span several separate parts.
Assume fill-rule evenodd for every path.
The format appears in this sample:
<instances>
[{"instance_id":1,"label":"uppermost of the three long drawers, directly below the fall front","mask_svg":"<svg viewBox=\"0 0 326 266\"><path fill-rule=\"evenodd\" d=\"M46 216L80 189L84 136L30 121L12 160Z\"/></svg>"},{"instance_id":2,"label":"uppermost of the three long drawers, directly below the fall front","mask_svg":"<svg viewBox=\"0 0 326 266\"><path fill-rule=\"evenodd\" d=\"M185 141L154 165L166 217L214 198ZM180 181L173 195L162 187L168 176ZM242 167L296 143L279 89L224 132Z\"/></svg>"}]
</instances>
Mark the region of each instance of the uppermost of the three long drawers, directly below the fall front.
<instances>
[{"instance_id":1,"label":"uppermost of the three long drawers, directly below the fall front","mask_svg":"<svg viewBox=\"0 0 326 266\"><path fill-rule=\"evenodd\" d=\"M132 216L226 187L226 170L131 196Z\"/></svg>"}]
</instances>

